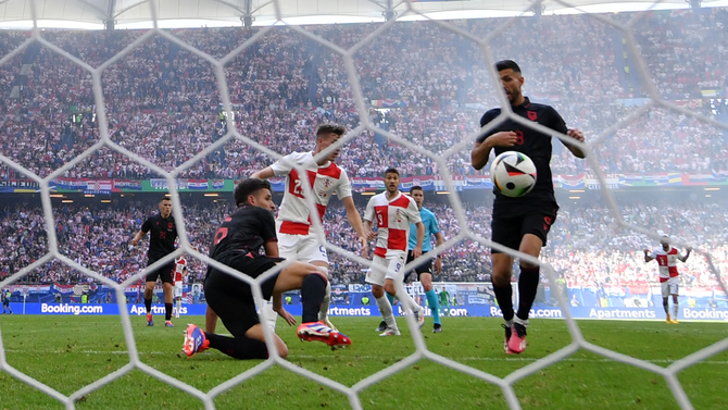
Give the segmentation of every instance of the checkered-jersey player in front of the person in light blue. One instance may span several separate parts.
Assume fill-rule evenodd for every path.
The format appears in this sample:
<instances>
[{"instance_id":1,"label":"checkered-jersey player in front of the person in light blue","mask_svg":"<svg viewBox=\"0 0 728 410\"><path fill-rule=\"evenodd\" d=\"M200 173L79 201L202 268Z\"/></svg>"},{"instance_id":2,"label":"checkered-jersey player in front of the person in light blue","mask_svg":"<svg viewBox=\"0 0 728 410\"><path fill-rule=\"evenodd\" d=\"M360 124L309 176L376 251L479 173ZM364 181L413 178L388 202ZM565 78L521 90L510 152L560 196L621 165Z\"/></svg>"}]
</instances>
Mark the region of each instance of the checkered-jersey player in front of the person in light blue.
<instances>
[{"instance_id":1,"label":"checkered-jersey player in front of the person in light blue","mask_svg":"<svg viewBox=\"0 0 728 410\"><path fill-rule=\"evenodd\" d=\"M425 225L419 216L419 209L414 199L402 195L399 190L400 173L393 169L385 171L387 190L369 199L364 212L367 237L376 238L376 248L372 268L366 273L366 282L372 284L372 295L385 318L387 327L379 336L399 336L400 331L394 321L392 306L385 291L396 297L402 306L411 311L422 328L425 324L425 310L404 290L404 265L407 257L407 239L410 224L417 227L417 244L412 249L415 259L422 256ZM372 232L376 221L377 232Z\"/></svg>"}]
</instances>

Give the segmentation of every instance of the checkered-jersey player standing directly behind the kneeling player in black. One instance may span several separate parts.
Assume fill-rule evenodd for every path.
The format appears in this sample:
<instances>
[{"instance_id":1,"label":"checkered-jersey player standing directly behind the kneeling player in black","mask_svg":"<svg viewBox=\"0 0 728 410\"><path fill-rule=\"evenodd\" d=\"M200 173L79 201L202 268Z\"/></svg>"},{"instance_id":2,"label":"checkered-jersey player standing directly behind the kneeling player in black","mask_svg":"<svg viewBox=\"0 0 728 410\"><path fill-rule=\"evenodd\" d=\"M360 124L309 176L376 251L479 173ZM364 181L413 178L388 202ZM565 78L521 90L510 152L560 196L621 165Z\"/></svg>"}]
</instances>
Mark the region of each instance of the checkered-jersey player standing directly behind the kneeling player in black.
<instances>
[{"instance_id":1,"label":"checkered-jersey player standing directly behind the kneeling player in black","mask_svg":"<svg viewBox=\"0 0 728 410\"><path fill-rule=\"evenodd\" d=\"M362 219L356 210L351 195L351 182L347 172L334 163L339 156L340 149L332 151L328 157L316 161L314 157L338 141L346 133L340 125L323 124L316 131L316 148L309 152L293 152L276 161L271 166L258 171L251 178L267 179L274 176L286 176L284 199L278 209L276 218L276 229L278 234L278 251L280 258L307 262L323 268L328 272L328 256L324 244L311 232L311 212L304 198L303 185L305 179L299 175L293 164L299 165L306 172L313 202L318 211L319 220L324 219L326 207L331 196L336 196L343 202L347 219L359 236L362 246L362 257L366 258L367 241ZM329 327L336 328L328 320L328 307L331 300L331 287L327 284L324 305L321 308L319 319ZM268 303L269 306L269 303ZM274 320L275 314L271 315ZM275 326L275 321L269 322Z\"/></svg>"}]
</instances>

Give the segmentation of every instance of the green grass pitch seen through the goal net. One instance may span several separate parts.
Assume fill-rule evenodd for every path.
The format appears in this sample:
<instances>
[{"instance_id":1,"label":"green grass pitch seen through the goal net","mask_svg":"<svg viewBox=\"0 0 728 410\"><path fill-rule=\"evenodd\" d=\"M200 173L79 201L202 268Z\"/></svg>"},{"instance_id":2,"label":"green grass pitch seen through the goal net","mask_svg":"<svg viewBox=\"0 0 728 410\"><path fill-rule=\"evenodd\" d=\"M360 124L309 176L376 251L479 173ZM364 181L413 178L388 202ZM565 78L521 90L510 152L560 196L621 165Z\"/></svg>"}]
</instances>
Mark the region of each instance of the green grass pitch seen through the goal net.
<instances>
[{"instance_id":1,"label":"green grass pitch seen through the goal net","mask_svg":"<svg viewBox=\"0 0 728 410\"><path fill-rule=\"evenodd\" d=\"M262 362L233 360L216 350L192 359L180 355L183 324L201 324L202 318L177 320L175 328L148 327L143 318L131 319L141 360L202 392ZM430 333L429 324L424 328L428 348L499 377L570 343L563 321L531 320L528 349L520 356L505 356L501 321L445 318L443 322L442 334ZM331 351L319 343L301 343L292 328L279 324L290 362L351 386L415 351L403 320L401 337L378 337L376 319L336 318L335 323L352 338L349 349ZM581 321L579 325L588 341L662 366L728 337L728 323ZM0 326L8 363L64 395L128 363L121 321L115 316L13 315L2 316ZM687 369L679 378L695 409L728 408L728 352ZM0 392L2 408L63 408L7 372L0 372ZM661 376L583 350L519 381L515 392L524 409L678 408ZM507 408L499 387L429 360L409 365L360 397L365 409ZM349 408L349 400L276 365L222 394L215 405L218 409L342 409ZM85 396L77 408L199 409L202 403L134 370Z\"/></svg>"}]
</instances>

